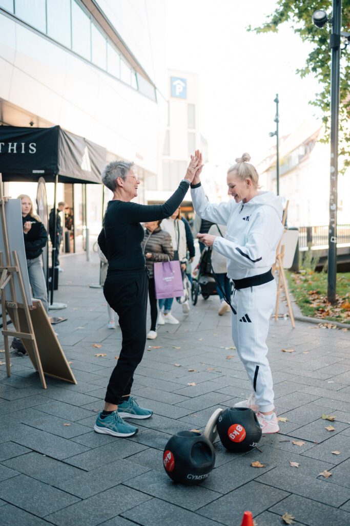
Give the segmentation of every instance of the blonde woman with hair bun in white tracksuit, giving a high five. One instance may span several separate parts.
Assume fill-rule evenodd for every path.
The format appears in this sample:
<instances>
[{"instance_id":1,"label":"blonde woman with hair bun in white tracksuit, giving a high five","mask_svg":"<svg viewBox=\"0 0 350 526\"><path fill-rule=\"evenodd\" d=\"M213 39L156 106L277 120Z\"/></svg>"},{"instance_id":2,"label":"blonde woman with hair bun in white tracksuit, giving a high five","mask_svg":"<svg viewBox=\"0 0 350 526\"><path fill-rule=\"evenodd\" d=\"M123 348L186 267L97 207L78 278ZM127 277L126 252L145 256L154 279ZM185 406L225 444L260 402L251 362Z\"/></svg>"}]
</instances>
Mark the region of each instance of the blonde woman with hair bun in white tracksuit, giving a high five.
<instances>
[{"instance_id":1,"label":"blonde woman with hair bun in white tracksuit, giving a high five","mask_svg":"<svg viewBox=\"0 0 350 526\"><path fill-rule=\"evenodd\" d=\"M197 237L228 258L227 274L234 281L230 301L232 339L253 388L248 400L235 407L257 411L262 432L275 433L279 426L266 339L276 300L271 267L283 232L282 203L272 192L258 190L259 176L249 160L249 154L243 154L228 170L228 194L233 197L230 201L208 203L198 172L191 195L200 217L227 225L225 238L209 234Z\"/></svg>"}]
</instances>

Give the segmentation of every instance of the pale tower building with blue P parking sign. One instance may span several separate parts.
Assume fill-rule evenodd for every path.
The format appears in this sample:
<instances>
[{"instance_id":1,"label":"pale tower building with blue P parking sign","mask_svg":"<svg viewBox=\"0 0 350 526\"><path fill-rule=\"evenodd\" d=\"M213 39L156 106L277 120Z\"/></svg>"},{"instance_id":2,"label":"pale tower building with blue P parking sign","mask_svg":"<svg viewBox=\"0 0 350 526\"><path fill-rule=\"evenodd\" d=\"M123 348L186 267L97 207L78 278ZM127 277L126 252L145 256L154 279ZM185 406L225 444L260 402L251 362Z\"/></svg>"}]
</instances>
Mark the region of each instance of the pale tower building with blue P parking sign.
<instances>
[{"instance_id":1,"label":"pale tower building with blue P parking sign","mask_svg":"<svg viewBox=\"0 0 350 526\"><path fill-rule=\"evenodd\" d=\"M199 77L195 73L168 71L168 111L160 170L145 181L148 203L163 203L184 178L190 155L201 149L208 160L208 144L200 134ZM185 202L192 210L189 193ZM187 198L186 196L186 198Z\"/></svg>"}]
</instances>

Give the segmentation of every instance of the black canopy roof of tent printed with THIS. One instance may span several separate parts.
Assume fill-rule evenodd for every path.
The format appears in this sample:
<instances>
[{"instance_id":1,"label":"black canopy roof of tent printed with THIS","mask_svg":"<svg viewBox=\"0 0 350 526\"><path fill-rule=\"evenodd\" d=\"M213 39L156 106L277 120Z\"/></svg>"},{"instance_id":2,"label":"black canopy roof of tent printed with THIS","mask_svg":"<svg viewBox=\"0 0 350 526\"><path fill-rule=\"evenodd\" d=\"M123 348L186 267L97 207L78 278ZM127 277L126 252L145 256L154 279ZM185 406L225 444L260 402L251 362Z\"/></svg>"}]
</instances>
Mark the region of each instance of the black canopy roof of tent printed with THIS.
<instances>
[{"instance_id":1,"label":"black canopy roof of tent printed with THIS","mask_svg":"<svg viewBox=\"0 0 350 526\"><path fill-rule=\"evenodd\" d=\"M0 126L3 181L101 183L106 150L84 137L52 128Z\"/></svg>"}]
</instances>

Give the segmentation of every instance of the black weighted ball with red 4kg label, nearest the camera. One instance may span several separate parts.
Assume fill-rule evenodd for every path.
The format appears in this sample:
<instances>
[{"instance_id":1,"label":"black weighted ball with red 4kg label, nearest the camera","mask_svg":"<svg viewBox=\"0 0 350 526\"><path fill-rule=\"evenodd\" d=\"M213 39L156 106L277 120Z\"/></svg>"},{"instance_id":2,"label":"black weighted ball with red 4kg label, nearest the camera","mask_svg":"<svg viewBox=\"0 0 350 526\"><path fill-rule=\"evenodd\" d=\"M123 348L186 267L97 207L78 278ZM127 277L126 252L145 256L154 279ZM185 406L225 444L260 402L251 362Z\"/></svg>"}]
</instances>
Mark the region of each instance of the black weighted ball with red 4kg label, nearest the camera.
<instances>
[{"instance_id":1,"label":"black weighted ball with red 4kg label, nearest the camera","mask_svg":"<svg viewBox=\"0 0 350 526\"><path fill-rule=\"evenodd\" d=\"M174 482L198 484L208 477L214 464L213 444L199 432L180 431L166 443L163 465Z\"/></svg>"}]
</instances>

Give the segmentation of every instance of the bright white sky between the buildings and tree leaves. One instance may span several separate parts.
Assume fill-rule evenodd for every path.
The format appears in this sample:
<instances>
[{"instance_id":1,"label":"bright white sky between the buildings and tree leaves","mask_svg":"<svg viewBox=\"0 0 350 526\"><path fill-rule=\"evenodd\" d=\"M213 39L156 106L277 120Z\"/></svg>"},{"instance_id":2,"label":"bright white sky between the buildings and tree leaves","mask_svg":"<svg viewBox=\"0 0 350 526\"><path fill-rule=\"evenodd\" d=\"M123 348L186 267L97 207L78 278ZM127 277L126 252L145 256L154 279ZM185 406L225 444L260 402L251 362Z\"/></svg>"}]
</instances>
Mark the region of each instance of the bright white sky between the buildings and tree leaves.
<instances>
[{"instance_id":1,"label":"bright white sky between the buildings and tree leaves","mask_svg":"<svg viewBox=\"0 0 350 526\"><path fill-rule=\"evenodd\" d=\"M320 89L301 79L311 50L289 26L256 35L273 12L274 0L165 0L167 64L199 74L200 130L210 160L232 163L243 151L257 164L275 143L275 94L280 98L280 134L290 133L315 108L308 103ZM311 16L312 13L310 13Z\"/></svg>"}]
</instances>

